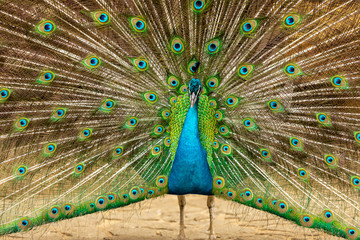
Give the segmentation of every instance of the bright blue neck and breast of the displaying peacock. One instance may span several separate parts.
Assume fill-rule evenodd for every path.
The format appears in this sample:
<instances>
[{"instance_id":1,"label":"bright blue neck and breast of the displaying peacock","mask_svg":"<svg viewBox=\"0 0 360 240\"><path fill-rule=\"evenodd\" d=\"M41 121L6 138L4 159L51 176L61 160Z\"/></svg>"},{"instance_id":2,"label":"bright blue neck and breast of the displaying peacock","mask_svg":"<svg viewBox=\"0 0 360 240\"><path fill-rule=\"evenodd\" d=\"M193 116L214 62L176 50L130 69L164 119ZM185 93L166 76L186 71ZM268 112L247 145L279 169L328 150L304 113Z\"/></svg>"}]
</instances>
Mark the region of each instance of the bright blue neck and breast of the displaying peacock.
<instances>
[{"instance_id":1,"label":"bright blue neck and breast of the displaying peacock","mask_svg":"<svg viewBox=\"0 0 360 240\"><path fill-rule=\"evenodd\" d=\"M169 175L169 193L212 195L207 153L200 142L198 105L190 108Z\"/></svg>"}]
</instances>

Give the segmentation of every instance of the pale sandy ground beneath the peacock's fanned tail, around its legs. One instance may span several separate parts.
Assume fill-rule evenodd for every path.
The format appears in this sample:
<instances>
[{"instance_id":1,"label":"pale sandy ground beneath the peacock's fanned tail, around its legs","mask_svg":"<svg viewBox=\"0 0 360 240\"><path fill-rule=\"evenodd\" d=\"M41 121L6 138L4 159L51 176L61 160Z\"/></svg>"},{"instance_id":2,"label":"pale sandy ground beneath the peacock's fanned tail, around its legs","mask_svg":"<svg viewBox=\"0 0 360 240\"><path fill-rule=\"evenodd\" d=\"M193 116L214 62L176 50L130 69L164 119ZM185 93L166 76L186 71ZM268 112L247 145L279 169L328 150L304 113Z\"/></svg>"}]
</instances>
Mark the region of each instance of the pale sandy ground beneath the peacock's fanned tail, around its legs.
<instances>
[{"instance_id":1,"label":"pale sandy ground beneath the peacock's fanned tail, around its legs","mask_svg":"<svg viewBox=\"0 0 360 240\"><path fill-rule=\"evenodd\" d=\"M207 197L190 195L186 200L187 239L208 239ZM125 208L47 224L28 232L4 236L2 239L165 240L177 239L178 230L177 197L167 195ZM221 199L216 199L215 203L215 231L219 240L342 239Z\"/></svg>"}]
</instances>

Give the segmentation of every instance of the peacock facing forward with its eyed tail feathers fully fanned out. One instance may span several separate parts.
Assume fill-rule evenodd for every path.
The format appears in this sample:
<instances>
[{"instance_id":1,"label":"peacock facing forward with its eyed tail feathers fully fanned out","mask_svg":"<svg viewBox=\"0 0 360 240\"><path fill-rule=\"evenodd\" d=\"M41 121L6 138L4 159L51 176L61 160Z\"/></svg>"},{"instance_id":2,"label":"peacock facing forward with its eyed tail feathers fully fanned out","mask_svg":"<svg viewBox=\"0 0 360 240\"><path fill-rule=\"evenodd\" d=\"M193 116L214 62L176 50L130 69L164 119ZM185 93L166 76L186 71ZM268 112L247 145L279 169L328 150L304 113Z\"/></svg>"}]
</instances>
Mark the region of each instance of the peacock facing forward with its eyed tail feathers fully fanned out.
<instances>
[{"instance_id":1,"label":"peacock facing forward with its eyed tail feathers fully fanned out","mask_svg":"<svg viewBox=\"0 0 360 240\"><path fill-rule=\"evenodd\" d=\"M2 0L0 235L178 195L360 239L358 0ZM294 233L295 235L296 233Z\"/></svg>"}]
</instances>

